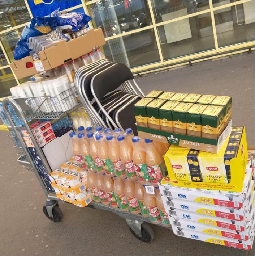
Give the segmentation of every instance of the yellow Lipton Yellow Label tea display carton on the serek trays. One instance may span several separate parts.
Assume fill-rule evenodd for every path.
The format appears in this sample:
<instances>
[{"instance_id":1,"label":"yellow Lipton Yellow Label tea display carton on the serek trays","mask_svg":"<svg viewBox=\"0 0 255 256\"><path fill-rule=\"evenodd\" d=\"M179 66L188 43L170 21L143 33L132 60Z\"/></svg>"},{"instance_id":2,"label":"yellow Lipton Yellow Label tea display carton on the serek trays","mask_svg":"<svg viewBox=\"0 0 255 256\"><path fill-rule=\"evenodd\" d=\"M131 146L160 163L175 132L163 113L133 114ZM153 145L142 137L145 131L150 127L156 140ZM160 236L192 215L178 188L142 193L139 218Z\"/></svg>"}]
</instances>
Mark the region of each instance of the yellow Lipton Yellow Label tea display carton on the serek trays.
<instances>
[{"instance_id":1,"label":"yellow Lipton Yellow Label tea display carton on the serek trays","mask_svg":"<svg viewBox=\"0 0 255 256\"><path fill-rule=\"evenodd\" d=\"M231 156L231 158L226 156L229 152L226 148L227 145L228 138L225 140L217 155L200 151L195 161L194 159L187 159L187 156L181 153L181 148L171 149L170 147L164 155L164 160L172 185L242 192L248 159L245 127L243 127L239 148L236 154ZM232 151L233 150L230 150L230 153ZM189 176L189 161L192 168L196 167L196 169L200 170L203 182L195 179L191 180ZM180 175L178 173L180 173ZM182 173L186 173L186 176L183 176ZM181 175L185 179L181 179Z\"/></svg>"}]
</instances>

